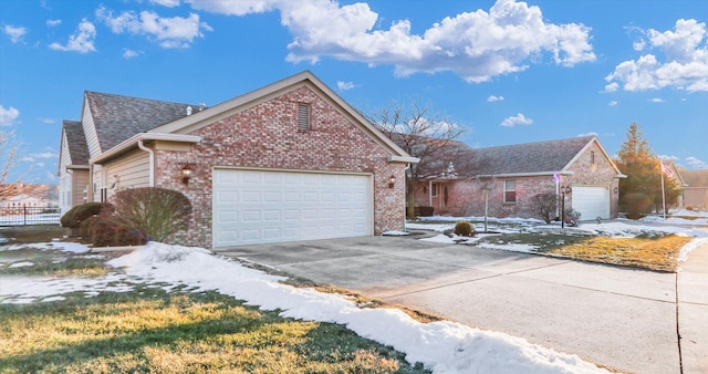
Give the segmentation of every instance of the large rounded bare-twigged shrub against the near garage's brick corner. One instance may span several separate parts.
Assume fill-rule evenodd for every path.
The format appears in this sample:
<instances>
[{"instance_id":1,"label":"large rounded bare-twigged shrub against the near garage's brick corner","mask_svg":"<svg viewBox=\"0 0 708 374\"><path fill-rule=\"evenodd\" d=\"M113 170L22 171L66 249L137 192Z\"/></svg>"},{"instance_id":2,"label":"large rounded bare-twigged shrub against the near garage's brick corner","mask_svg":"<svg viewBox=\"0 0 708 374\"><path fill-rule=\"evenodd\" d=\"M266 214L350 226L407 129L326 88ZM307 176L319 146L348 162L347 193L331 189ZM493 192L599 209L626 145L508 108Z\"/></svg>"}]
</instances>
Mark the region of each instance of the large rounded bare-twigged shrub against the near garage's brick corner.
<instances>
[{"instance_id":1,"label":"large rounded bare-twigged shrub against the near garage's brick corner","mask_svg":"<svg viewBox=\"0 0 708 374\"><path fill-rule=\"evenodd\" d=\"M115 194L117 216L127 219L150 240L163 241L187 228L191 202L179 191L157 188L132 188Z\"/></svg>"}]
</instances>

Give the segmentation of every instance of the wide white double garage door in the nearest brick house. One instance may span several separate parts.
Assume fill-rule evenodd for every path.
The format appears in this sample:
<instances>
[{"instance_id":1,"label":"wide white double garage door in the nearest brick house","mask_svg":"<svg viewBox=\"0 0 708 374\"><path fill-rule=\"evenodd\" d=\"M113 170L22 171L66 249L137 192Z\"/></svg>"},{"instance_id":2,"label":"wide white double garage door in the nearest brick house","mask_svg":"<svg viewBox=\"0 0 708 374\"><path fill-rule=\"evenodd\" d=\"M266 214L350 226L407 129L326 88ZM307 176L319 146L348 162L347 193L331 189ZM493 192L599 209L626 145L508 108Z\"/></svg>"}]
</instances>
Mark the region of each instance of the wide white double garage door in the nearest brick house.
<instances>
[{"instance_id":1,"label":"wide white double garage door in the nearest brick house","mask_svg":"<svg viewBox=\"0 0 708 374\"><path fill-rule=\"evenodd\" d=\"M214 170L214 247L371 236L369 176Z\"/></svg>"}]
</instances>

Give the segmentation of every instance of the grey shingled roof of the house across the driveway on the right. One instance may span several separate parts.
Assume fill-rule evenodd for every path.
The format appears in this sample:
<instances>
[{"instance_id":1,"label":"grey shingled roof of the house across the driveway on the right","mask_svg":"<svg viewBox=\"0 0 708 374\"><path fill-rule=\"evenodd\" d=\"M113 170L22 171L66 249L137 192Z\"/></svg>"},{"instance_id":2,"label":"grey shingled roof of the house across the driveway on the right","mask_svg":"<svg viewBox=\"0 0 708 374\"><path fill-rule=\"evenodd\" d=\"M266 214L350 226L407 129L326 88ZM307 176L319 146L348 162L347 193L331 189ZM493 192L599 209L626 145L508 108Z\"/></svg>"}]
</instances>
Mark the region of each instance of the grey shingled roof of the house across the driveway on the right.
<instances>
[{"instance_id":1,"label":"grey shingled roof of the house across the driveway on the right","mask_svg":"<svg viewBox=\"0 0 708 374\"><path fill-rule=\"evenodd\" d=\"M568 139L514 144L471 152L477 167L476 174L514 175L555 173L563 170L595 136Z\"/></svg>"}]
</instances>

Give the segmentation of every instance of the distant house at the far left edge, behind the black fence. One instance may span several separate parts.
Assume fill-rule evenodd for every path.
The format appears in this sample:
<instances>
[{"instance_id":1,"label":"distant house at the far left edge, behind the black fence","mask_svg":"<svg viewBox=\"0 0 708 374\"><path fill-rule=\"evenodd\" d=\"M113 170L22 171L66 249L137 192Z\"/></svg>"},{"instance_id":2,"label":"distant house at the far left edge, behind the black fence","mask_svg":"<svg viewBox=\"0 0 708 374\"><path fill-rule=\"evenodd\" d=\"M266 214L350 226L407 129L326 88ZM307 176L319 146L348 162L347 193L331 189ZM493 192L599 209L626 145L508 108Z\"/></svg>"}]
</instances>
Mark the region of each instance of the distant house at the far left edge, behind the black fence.
<instances>
[{"instance_id":1,"label":"distant house at the far left edge, behind the black fence","mask_svg":"<svg viewBox=\"0 0 708 374\"><path fill-rule=\"evenodd\" d=\"M56 185L7 184L0 185L0 208L50 208L56 207Z\"/></svg>"}]
</instances>

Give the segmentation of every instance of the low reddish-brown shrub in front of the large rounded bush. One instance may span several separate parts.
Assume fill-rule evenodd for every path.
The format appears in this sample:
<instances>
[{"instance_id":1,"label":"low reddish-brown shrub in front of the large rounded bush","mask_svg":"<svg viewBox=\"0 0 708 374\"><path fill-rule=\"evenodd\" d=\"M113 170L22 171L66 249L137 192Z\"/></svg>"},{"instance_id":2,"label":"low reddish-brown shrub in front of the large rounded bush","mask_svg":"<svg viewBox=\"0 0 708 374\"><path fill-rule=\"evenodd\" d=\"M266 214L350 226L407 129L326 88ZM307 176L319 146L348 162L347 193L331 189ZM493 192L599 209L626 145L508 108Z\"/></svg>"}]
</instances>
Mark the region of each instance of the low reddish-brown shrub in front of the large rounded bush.
<instances>
[{"instance_id":1,"label":"low reddish-brown shrub in front of the large rounded bush","mask_svg":"<svg viewBox=\"0 0 708 374\"><path fill-rule=\"evenodd\" d=\"M139 246L147 242L145 235L133 224L115 216L91 217L81 224L82 241L94 247Z\"/></svg>"}]
</instances>

